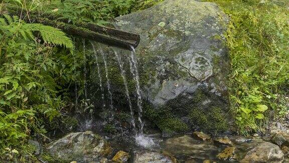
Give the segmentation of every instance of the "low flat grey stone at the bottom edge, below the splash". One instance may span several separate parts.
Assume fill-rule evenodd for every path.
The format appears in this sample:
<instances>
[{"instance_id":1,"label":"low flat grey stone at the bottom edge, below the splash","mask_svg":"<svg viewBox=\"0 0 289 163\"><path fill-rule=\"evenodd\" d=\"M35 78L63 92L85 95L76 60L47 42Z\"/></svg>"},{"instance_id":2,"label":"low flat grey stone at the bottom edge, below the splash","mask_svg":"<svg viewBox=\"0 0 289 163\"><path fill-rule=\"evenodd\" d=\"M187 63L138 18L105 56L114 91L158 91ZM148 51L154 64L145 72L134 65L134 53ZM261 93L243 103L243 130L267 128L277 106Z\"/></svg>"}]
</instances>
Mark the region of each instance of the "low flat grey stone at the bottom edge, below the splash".
<instances>
[{"instance_id":1,"label":"low flat grey stone at the bottom edge, below the splash","mask_svg":"<svg viewBox=\"0 0 289 163\"><path fill-rule=\"evenodd\" d=\"M175 163L170 156L153 151L135 151L133 162L135 163Z\"/></svg>"}]
</instances>

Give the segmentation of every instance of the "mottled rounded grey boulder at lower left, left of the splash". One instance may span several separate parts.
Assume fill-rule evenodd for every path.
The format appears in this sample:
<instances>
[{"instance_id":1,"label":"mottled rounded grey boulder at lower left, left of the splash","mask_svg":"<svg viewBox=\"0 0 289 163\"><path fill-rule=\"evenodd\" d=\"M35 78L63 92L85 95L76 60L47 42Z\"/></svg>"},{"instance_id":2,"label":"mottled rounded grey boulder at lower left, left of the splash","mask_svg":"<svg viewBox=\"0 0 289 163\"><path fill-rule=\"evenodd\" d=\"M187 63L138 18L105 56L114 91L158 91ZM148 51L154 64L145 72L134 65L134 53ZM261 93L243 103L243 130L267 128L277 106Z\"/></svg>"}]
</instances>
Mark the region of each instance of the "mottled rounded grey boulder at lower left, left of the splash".
<instances>
[{"instance_id":1,"label":"mottled rounded grey boulder at lower left, left of the splash","mask_svg":"<svg viewBox=\"0 0 289 163\"><path fill-rule=\"evenodd\" d=\"M91 131L70 133L51 142L46 149L56 159L67 162L92 161L112 152L106 140Z\"/></svg>"}]
</instances>

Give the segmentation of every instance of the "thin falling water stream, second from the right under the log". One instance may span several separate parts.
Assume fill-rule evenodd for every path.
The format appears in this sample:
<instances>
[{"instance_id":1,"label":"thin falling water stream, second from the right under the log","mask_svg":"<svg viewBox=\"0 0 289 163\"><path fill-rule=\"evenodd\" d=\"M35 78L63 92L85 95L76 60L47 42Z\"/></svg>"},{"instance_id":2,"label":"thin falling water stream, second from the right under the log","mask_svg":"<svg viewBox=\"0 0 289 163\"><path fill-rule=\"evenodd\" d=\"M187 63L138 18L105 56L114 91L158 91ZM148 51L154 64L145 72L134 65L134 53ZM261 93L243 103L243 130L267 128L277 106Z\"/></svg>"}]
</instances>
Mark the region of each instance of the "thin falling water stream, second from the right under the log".
<instances>
[{"instance_id":1,"label":"thin falling water stream, second from the right under the log","mask_svg":"<svg viewBox=\"0 0 289 163\"><path fill-rule=\"evenodd\" d=\"M118 62L119 68L120 68L120 75L121 75L121 77L123 79L123 84L124 84L124 88L125 88L125 95L126 95L126 99L127 99L129 110L130 110L130 116L131 116L131 120L130 121L131 121L131 124L133 126L134 133L136 134L135 122L134 122L134 114L133 114L132 105L131 105L131 101L130 101L130 97L129 97L127 81L126 81L126 77L125 77L125 71L123 69L123 61L121 60L120 55L114 49L113 49L113 52L115 54L116 60Z\"/></svg>"}]
</instances>

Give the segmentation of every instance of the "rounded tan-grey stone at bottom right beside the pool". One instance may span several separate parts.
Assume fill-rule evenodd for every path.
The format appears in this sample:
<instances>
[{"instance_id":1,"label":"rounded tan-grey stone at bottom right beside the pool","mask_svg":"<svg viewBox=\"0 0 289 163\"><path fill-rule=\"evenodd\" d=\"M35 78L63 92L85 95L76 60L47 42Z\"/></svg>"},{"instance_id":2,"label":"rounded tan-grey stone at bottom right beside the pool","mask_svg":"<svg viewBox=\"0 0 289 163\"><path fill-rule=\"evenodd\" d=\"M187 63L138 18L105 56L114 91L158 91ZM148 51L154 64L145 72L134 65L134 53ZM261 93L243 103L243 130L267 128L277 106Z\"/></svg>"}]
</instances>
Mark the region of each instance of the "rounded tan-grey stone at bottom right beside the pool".
<instances>
[{"instance_id":1,"label":"rounded tan-grey stone at bottom right beside the pool","mask_svg":"<svg viewBox=\"0 0 289 163\"><path fill-rule=\"evenodd\" d=\"M284 154L275 144L262 142L247 152L240 162L282 162Z\"/></svg>"}]
</instances>

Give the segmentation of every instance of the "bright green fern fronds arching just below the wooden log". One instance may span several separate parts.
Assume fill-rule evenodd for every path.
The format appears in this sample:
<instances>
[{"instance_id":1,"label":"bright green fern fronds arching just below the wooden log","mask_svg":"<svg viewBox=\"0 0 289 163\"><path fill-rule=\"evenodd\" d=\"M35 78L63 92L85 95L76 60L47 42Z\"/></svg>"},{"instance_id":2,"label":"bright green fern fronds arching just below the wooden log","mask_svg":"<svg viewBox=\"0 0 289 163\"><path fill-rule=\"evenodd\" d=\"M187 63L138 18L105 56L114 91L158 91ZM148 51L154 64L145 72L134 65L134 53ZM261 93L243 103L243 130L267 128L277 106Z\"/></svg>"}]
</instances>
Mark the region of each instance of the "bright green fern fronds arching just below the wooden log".
<instances>
[{"instance_id":1,"label":"bright green fern fronds arching just below the wooden log","mask_svg":"<svg viewBox=\"0 0 289 163\"><path fill-rule=\"evenodd\" d=\"M64 46L71 51L74 50L72 40L66 34L54 27L45 26L42 24L26 24L14 16L4 14L4 18L0 18L0 32L7 34L7 32L22 36L24 39L34 39L33 31L39 31L44 42L53 44L55 46Z\"/></svg>"}]
</instances>

